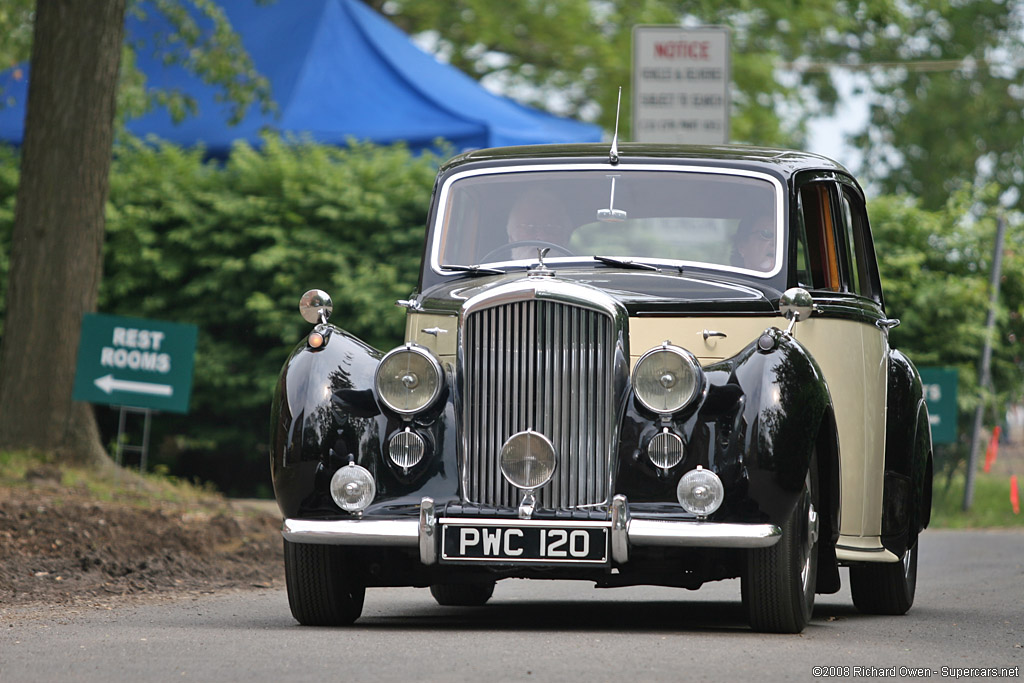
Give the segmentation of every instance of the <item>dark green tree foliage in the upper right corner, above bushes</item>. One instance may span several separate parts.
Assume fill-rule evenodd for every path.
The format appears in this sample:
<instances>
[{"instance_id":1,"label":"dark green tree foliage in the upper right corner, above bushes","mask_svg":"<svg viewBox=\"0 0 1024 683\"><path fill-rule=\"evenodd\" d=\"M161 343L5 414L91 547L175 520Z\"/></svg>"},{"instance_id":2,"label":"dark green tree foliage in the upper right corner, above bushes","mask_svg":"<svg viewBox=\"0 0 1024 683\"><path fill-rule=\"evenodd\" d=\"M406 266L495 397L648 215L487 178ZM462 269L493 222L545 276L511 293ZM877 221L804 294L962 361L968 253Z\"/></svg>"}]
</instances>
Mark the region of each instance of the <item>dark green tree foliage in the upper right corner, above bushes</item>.
<instances>
[{"instance_id":1,"label":"dark green tree foliage in the upper right corner, above bushes","mask_svg":"<svg viewBox=\"0 0 1024 683\"><path fill-rule=\"evenodd\" d=\"M1024 187L1024 12L1017 2L918 0L867 71L864 171L939 210L967 184ZM899 66L900 63L904 66Z\"/></svg>"}]
</instances>

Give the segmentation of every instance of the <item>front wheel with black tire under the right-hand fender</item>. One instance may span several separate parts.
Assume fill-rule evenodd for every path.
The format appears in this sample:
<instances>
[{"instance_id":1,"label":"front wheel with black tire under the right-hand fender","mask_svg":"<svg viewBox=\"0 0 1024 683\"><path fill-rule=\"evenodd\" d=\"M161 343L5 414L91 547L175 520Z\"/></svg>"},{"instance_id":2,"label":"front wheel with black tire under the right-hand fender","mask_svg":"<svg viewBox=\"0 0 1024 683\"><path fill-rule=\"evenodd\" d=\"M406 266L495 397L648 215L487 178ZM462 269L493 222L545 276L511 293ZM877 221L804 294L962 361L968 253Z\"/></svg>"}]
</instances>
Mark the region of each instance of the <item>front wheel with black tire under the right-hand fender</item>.
<instances>
[{"instance_id":1,"label":"front wheel with black tire under the right-hand fender","mask_svg":"<svg viewBox=\"0 0 1024 683\"><path fill-rule=\"evenodd\" d=\"M782 538L770 548L748 553L740 589L755 631L800 633L811 618L818 566L817 489L812 460L804 493L782 525Z\"/></svg>"}]
</instances>

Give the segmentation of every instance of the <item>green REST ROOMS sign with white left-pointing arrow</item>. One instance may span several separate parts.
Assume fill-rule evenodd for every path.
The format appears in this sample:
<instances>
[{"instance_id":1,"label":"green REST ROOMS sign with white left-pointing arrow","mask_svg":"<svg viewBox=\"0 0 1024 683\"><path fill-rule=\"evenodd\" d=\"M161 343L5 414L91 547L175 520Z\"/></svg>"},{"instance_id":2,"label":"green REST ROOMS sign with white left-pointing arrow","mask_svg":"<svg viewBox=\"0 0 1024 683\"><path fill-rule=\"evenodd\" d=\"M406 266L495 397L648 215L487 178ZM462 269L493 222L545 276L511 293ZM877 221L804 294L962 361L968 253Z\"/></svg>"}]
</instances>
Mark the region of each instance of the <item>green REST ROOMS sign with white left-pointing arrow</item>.
<instances>
[{"instance_id":1,"label":"green REST ROOMS sign with white left-pointing arrow","mask_svg":"<svg viewBox=\"0 0 1024 683\"><path fill-rule=\"evenodd\" d=\"M86 313L75 400L187 413L195 325Z\"/></svg>"}]
</instances>

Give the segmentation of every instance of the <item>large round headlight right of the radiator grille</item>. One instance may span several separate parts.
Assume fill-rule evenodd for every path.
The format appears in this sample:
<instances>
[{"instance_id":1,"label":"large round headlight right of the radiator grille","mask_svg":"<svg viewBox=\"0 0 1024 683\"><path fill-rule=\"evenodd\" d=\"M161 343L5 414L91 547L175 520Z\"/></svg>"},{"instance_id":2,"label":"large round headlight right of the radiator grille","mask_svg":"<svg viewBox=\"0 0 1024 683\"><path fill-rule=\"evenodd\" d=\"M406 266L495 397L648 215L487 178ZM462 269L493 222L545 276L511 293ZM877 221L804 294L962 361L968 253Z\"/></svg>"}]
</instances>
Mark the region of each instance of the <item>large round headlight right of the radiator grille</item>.
<instances>
[{"instance_id":1,"label":"large round headlight right of the radiator grille","mask_svg":"<svg viewBox=\"0 0 1024 683\"><path fill-rule=\"evenodd\" d=\"M633 390L654 413L675 413L697 397L703 373L684 348L664 344L644 353L633 369Z\"/></svg>"}]
</instances>

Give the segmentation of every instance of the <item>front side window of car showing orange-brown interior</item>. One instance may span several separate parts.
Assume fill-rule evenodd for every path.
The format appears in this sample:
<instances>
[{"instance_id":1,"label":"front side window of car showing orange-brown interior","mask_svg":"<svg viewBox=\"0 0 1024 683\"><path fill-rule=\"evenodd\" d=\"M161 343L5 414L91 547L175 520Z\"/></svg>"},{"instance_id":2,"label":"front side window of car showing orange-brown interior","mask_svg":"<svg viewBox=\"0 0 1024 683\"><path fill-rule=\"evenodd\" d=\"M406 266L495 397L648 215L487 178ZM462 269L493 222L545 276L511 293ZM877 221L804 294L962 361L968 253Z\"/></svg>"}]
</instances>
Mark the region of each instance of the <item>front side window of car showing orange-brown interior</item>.
<instances>
[{"instance_id":1,"label":"front side window of car showing orange-brown interior","mask_svg":"<svg viewBox=\"0 0 1024 683\"><path fill-rule=\"evenodd\" d=\"M831 182L810 182L800 190L800 224L806 240L806 271L810 273L812 289L839 292L842 281L837 252L836 215L829 188ZM801 264L801 246L798 243L798 278Z\"/></svg>"}]
</instances>

